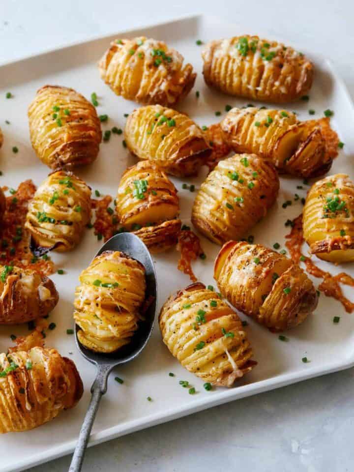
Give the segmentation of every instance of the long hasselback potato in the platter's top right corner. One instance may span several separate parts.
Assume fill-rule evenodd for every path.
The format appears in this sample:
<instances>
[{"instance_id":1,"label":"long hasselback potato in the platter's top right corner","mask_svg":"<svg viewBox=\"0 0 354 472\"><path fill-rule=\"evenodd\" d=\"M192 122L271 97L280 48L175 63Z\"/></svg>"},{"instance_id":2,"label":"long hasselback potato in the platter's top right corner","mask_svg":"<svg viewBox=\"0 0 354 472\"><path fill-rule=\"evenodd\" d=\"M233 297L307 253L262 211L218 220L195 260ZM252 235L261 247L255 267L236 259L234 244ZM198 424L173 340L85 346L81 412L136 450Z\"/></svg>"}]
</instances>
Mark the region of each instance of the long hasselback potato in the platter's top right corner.
<instances>
[{"instance_id":1,"label":"long hasselback potato in the platter's top right corner","mask_svg":"<svg viewBox=\"0 0 354 472\"><path fill-rule=\"evenodd\" d=\"M284 103L300 98L312 86L313 64L306 57L258 36L211 41L202 58L206 84L230 95Z\"/></svg>"}]
</instances>

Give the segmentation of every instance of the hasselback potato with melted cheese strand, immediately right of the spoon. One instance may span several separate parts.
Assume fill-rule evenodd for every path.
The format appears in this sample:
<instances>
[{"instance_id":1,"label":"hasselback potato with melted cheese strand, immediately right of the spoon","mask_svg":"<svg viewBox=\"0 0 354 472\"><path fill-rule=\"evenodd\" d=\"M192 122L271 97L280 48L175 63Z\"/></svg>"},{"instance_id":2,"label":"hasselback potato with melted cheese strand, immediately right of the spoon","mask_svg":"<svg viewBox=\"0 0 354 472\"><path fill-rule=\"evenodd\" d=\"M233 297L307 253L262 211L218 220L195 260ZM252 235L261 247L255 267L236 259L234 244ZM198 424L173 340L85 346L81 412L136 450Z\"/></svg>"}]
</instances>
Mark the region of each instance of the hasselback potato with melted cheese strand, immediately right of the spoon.
<instances>
[{"instance_id":1,"label":"hasselback potato with melted cheese strand, immediately right of the spoon","mask_svg":"<svg viewBox=\"0 0 354 472\"><path fill-rule=\"evenodd\" d=\"M198 322L201 313L205 322ZM205 382L230 387L256 364L251 360L252 349L241 320L200 282L167 299L159 324L170 353Z\"/></svg>"}]
</instances>

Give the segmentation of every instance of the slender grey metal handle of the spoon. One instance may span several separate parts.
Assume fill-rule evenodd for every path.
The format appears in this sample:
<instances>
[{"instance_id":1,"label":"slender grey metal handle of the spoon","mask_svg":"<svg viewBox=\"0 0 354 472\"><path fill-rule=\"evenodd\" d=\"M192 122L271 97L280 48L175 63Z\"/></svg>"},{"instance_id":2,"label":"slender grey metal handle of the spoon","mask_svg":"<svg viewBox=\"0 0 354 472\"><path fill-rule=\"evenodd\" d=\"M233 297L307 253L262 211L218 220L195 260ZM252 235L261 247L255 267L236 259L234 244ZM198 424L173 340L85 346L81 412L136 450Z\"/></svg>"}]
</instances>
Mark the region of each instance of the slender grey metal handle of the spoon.
<instances>
[{"instance_id":1,"label":"slender grey metal handle of the spoon","mask_svg":"<svg viewBox=\"0 0 354 472\"><path fill-rule=\"evenodd\" d=\"M110 365L98 366L95 381L91 386L91 401L89 403L89 408L86 412L79 438L76 443L75 451L71 459L69 472L81 471L93 421L95 419L101 397L107 391L107 379L111 370L112 366Z\"/></svg>"}]
</instances>

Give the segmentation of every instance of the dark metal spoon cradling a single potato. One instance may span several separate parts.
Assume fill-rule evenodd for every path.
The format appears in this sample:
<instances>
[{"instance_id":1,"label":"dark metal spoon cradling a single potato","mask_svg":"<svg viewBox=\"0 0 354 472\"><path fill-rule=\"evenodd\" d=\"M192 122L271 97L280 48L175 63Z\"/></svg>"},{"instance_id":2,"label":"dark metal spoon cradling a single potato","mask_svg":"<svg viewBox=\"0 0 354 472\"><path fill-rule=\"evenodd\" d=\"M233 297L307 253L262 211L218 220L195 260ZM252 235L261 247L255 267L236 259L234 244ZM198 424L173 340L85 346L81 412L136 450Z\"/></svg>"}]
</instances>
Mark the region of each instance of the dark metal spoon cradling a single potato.
<instances>
[{"instance_id":1,"label":"dark metal spoon cradling a single potato","mask_svg":"<svg viewBox=\"0 0 354 472\"><path fill-rule=\"evenodd\" d=\"M89 362L97 366L97 375L91 387L91 401L80 430L79 439L76 443L69 472L81 471L93 421L101 397L107 391L107 379L110 372L117 365L125 364L126 362L135 359L143 351L151 335L155 318L157 301L156 273L146 245L138 238L138 236L131 233L121 233L111 237L111 239L101 247L96 256L100 255L104 251L121 251L143 264L146 270L146 299L152 296L153 301L149 304L145 313L146 321L139 324L131 342L118 349L115 353L100 354L85 348L78 341L77 332L79 327L77 324L75 325L76 345L81 354L89 360Z\"/></svg>"}]
</instances>

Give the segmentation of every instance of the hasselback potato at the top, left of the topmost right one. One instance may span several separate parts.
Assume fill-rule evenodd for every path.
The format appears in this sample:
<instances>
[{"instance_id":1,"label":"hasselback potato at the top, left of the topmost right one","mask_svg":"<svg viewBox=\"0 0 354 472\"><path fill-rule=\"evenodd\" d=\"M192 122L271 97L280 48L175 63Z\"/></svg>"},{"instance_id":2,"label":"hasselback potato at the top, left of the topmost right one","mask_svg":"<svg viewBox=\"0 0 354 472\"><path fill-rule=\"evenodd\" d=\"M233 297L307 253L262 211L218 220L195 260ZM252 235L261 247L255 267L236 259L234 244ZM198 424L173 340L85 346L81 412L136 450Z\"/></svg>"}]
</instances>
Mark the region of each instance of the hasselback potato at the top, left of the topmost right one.
<instances>
[{"instance_id":1,"label":"hasselback potato at the top, left of the topmost right one","mask_svg":"<svg viewBox=\"0 0 354 472\"><path fill-rule=\"evenodd\" d=\"M99 62L101 78L117 94L139 103L174 105L192 89L191 64L163 41L118 39Z\"/></svg>"}]
</instances>

